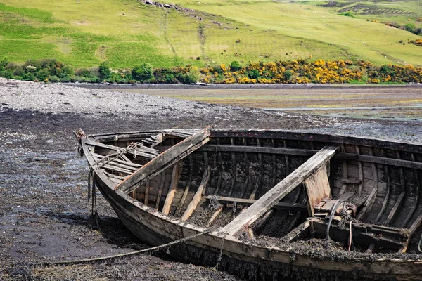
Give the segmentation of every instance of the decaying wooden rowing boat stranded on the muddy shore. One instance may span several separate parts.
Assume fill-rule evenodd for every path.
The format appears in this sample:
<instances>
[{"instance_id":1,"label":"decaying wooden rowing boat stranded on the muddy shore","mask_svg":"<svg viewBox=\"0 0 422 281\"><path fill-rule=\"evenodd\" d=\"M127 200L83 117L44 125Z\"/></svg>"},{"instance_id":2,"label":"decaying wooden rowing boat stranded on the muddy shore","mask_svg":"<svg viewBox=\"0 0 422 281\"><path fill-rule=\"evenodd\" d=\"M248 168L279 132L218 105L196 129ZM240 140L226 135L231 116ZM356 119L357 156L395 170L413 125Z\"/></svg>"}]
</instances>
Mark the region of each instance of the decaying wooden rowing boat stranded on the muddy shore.
<instances>
[{"instance_id":1,"label":"decaying wooden rowing boat stranded on the muddy shore","mask_svg":"<svg viewBox=\"0 0 422 281\"><path fill-rule=\"evenodd\" d=\"M249 280L421 280L422 144L257 129L75 133L94 185L140 240L203 233L168 249L179 261Z\"/></svg>"}]
</instances>

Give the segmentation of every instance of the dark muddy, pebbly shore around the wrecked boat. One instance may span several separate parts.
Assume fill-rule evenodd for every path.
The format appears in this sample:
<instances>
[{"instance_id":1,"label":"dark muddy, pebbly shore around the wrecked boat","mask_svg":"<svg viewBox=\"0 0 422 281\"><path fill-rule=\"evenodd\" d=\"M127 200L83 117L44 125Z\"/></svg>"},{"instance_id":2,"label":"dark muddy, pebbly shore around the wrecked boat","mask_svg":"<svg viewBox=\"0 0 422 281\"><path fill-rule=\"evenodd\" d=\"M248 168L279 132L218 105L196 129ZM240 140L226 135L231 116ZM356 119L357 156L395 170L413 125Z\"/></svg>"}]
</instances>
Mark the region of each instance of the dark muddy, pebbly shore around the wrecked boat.
<instances>
[{"instance_id":1,"label":"dark muddy, pebbly shore around the wrecked boat","mask_svg":"<svg viewBox=\"0 0 422 281\"><path fill-rule=\"evenodd\" d=\"M146 248L98 195L87 203L86 133L215 126L338 133L421 143L422 122L347 119L0 79L0 280L238 280L143 254L113 264L39 266Z\"/></svg>"}]
</instances>

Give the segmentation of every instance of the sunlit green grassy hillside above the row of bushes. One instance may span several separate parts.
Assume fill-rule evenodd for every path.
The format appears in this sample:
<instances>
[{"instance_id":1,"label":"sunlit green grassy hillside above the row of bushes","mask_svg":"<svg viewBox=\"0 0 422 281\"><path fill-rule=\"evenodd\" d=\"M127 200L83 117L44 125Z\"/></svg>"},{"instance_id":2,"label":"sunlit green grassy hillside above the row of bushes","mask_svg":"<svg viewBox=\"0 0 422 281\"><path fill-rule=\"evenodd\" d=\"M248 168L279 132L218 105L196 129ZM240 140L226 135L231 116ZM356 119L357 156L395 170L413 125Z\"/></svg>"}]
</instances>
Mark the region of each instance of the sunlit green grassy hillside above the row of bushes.
<instances>
[{"instance_id":1,"label":"sunlit green grassy hillside above the row of bushes","mask_svg":"<svg viewBox=\"0 0 422 281\"><path fill-rule=\"evenodd\" d=\"M312 58L422 65L417 1L1 0L0 59L74 67L212 65ZM346 14L346 15L339 15ZM348 15L348 16L347 16ZM376 22L378 21L378 22Z\"/></svg>"}]
</instances>

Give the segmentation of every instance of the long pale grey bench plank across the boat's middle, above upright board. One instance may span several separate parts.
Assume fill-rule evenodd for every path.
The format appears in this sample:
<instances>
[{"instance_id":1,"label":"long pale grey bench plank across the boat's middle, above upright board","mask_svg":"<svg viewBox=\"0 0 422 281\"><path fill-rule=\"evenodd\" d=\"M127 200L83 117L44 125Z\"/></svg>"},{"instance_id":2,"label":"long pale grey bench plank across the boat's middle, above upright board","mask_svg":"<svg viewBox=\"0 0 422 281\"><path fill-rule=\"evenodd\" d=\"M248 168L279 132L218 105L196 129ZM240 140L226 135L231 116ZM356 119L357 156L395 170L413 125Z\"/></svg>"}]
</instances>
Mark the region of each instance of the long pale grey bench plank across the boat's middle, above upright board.
<instances>
[{"instance_id":1,"label":"long pale grey bench plank across the boat's middle, above upright board","mask_svg":"<svg viewBox=\"0 0 422 281\"><path fill-rule=\"evenodd\" d=\"M314 174L321 166L327 164L331 157L334 156L337 149L337 147L325 147L319 150L316 155L299 166L298 169L284 178L283 181L274 186L274 188L271 188L271 190L260 197L257 202L246 209L246 211L234 218L231 223L224 226L222 232L234 235L234 233L237 233L241 228L248 225L250 226L257 218L262 216L262 214L271 209L271 207L277 204L283 197L288 195L291 190Z\"/></svg>"}]
</instances>

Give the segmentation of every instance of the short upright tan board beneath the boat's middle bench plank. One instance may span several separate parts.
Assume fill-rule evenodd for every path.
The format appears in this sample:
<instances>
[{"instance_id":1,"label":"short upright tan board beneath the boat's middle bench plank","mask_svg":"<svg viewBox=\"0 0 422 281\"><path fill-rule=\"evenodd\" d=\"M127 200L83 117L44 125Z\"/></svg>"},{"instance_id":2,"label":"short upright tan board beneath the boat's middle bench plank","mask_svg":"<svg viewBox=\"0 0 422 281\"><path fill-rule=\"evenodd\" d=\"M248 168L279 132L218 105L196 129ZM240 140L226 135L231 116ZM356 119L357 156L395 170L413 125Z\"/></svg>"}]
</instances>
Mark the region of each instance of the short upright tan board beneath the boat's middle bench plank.
<instances>
[{"instance_id":1,"label":"short upright tan board beneath the boat's middle bench plank","mask_svg":"<svg viewBox=\"0 0 422 281\"><path fill-rule=\"evenodd\" d=\"M309 216L314 216L314 208L324 198L331 198L326 166L321 166L314 174L303 182L306 186Z\"/></svg>"}]
</instances>

